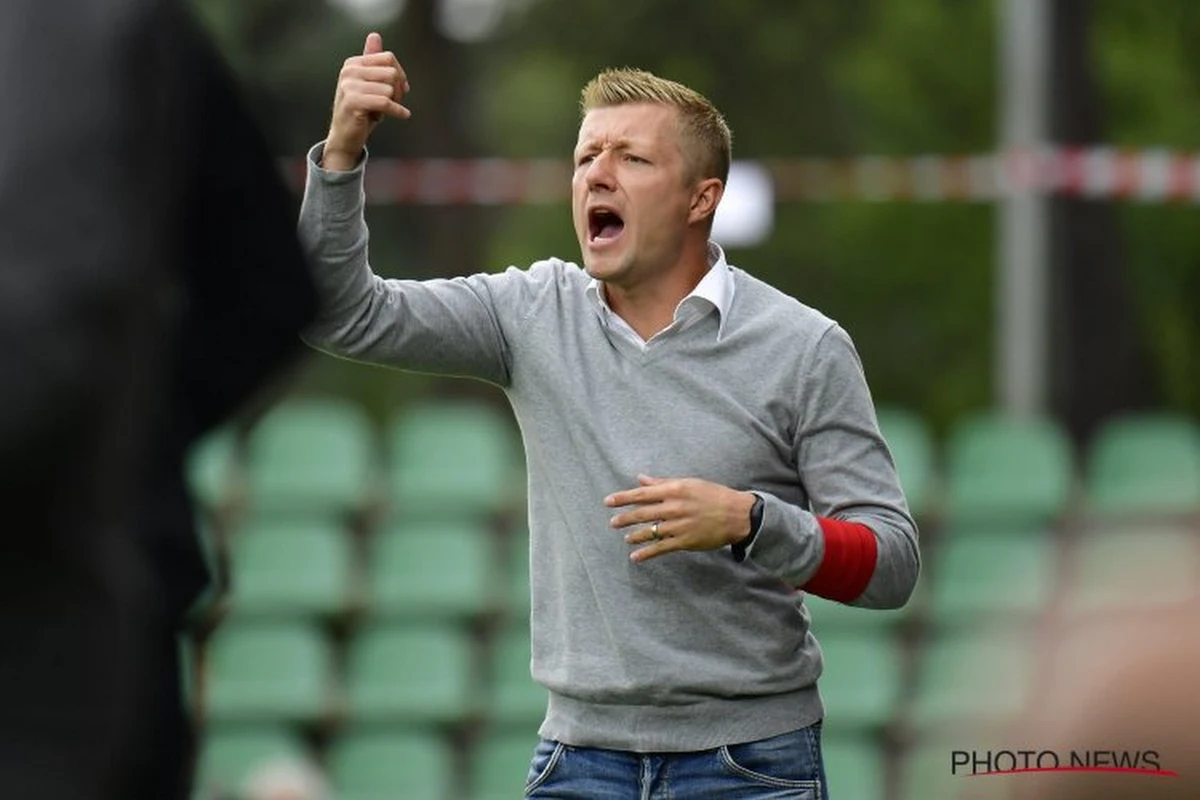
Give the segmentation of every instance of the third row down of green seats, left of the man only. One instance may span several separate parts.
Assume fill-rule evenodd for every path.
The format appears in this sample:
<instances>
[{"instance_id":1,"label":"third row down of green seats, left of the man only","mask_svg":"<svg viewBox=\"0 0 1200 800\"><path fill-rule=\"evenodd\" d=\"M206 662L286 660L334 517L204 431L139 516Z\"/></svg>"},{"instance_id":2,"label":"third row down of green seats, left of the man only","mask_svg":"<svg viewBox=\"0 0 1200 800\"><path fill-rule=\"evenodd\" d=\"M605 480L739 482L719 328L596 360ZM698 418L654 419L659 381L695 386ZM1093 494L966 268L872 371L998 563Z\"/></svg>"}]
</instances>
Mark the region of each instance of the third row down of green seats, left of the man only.
<instances>
[{"instance_id":1,"label":"third row down of green seats, left of the man only","mask_svg":"<svg viewBox=\"0 0 1200 800\"><path fill-rule=\"evenodd\" d=\"M234 618L208 646L205 718L462 724L486 716L536 726L546 693L529 676L528 626L497 639L481 654L461 626L378 622L342 649L301 620Z\"/></svg>"}]
</instances>

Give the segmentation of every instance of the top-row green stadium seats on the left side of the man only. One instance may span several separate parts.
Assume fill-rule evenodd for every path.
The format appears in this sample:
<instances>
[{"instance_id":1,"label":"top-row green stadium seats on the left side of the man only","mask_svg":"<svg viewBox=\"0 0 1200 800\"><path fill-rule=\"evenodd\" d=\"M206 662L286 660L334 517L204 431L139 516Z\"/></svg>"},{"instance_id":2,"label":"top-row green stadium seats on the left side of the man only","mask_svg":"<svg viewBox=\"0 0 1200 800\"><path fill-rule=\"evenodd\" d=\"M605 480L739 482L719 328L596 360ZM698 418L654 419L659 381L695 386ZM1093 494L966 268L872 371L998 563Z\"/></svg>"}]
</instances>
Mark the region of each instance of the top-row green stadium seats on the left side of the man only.
<instances>
[{"instance_id":1,"label":"top-row green stadium seats on the left side of the man only","mask_svg":"<svg viewBox=\"0 0 1200 800\"><path fill-rule=\"evenodd\" d=\"M408 516L486 515L518 509L524 497L514 427L478 402L408 409L377 437L366 413L347 401L288 401L245 437L232 428L208 437L188 470L204 505L244 494L262 515L340 513L378 492Z\"/></svg>"}]
</instances>

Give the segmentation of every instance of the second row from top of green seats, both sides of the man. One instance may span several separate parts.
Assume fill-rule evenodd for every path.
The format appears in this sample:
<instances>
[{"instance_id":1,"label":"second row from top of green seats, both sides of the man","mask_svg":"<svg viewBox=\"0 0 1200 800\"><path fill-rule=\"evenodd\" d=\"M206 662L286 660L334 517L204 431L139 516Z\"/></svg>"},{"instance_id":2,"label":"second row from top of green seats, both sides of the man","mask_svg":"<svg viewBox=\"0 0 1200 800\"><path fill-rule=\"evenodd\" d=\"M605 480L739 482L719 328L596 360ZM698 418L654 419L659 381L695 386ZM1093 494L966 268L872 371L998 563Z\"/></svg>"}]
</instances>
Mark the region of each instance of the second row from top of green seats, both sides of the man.
<instances>
[{"instance_id":1,"label":"second row from top of green seats, both sides of the man","mask_svg":"<svg viewBox=\"0 0 1200 800\"><path fill-rule=\"evenodd\" d=\"M1074 547L1049 528L989 529L929 540L917 596L900 612L821 604L822 631L894 622L920 613L938 625L1033 616L1061 601L1069 613L1189 596L1200 576L1194 529L1122 525ZM528 540L467 521L403 523L356 541L334 523L270 522L232 537L233 608L240 616L341 615L463 619L528 609ZM454 569L445 569L452 564ZM1133 564L1156 565L1153 587L1130 600Z\"/></svg>"}]
</instances>

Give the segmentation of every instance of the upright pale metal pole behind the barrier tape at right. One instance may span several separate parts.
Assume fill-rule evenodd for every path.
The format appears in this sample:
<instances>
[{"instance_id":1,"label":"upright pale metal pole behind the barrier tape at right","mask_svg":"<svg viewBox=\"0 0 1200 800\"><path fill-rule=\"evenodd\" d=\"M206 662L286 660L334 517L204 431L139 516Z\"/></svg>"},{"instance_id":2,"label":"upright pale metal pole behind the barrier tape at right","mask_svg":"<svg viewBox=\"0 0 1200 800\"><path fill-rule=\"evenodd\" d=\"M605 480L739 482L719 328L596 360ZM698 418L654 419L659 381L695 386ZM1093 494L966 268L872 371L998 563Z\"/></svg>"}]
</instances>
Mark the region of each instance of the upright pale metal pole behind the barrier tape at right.
<instances>
[{"instance_id":1,"label":"upright pale metal pole behind the barrier tape at right","mask_svg":"<svg viewBox=\"0 0 1200 800\"><path fill-rule=\"evenodd\" d=\"M1050 0L1002 0L1000 12L1001 150L1036 154L1049 140ZM1045 411L1048 401L1048 203L1036 186L1004 174L996 209L997 401L1030 415Z\"/></svg>"}]
</instances>

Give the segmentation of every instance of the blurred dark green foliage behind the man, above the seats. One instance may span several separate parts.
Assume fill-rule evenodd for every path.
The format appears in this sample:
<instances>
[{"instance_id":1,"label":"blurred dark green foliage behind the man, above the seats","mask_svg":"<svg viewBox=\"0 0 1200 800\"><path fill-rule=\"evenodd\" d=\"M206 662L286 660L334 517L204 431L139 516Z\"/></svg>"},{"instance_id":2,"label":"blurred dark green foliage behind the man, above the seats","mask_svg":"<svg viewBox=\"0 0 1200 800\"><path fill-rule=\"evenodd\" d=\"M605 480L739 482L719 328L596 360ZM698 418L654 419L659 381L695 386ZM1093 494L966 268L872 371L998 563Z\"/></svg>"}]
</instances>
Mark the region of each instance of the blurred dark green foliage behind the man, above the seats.
<instances>
[{"instance_id":1,"label":"blurred dark green foliage behind the man, above the seats","mask_svg":"<svg viewBox=\"0 0 1200 800\"><path fill-rule=\"evenodd\" d=\"M289 157L322 138L341 64L372 29L407 67L414 112L377 131L374 156L568 158L580 88L620 65L708 95L733 128L737 158L970 154L996 143L990 0L353 0L353 10L352 0L194 2ZM1200 4L1073 5L1098 90L1096 140L1195 148ZM1112 211L1109 233L1129 289L1120 302L1148 365L1140 396L1200 414L1195 210L1130 203ZM781 204L767 242L728 255L841 321L877 402L944 428L995 397L994 216L985 203ZM373 206L368 222L376 270L388 276L494 271L551 254L577 260L565 204ZM1070 291L1054 302L1063 312ZM380 413L443 390L428 378L325 357L313 359L302 386Z\"/></svg>"}]
</instances>

